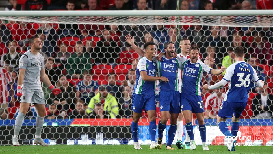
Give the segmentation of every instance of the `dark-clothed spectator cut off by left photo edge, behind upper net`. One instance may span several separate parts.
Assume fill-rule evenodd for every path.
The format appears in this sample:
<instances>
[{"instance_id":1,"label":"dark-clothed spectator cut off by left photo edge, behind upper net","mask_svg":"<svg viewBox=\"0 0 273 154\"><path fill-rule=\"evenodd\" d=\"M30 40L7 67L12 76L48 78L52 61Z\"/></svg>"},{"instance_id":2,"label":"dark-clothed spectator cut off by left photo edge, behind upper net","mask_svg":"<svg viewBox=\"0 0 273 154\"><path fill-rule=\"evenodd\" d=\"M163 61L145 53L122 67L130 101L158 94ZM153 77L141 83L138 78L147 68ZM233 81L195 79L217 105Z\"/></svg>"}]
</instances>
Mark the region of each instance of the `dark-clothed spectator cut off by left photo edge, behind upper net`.
<instances>
[{"instance_id":1,"label":"dark-clothed spectator cut off by left photo edge, behind upper net","mask_svg":"<svg viewBox=\"0 0 273 154\"><path fill-rule=\"evenodd\" d=\"M7 43L8 41L12 41L12 35L10 33L10 29L5 25L5 21L0 19L0 56L3 53L7 53L7 49L5 48L6 46L5 43Z\"/></svg>"}]
</instances>

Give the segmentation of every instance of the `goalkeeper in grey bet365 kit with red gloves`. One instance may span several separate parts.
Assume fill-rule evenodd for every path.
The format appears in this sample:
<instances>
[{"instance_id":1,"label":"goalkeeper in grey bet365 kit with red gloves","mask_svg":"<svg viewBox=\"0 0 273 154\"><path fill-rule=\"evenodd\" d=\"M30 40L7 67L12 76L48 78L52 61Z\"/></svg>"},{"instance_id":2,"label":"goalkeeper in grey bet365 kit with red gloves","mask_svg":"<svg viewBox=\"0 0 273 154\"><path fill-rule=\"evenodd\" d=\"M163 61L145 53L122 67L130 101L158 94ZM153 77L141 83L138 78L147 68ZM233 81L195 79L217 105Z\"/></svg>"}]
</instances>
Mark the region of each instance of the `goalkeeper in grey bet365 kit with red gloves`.
<instances>
[{"instance_id":1,"label":"goalkeeper in grey bet365 kit with red gloves","mask_svg":"<svg viewBox=\"0 0 273 154\"><path fill-rule=\"evenodd\" d=\"M42 41L38 35L29 39L30 50L25 52L19 60L19 76L17 96L20 99L19 113L15 120L14 135L12 145L19 146L18 135L21 130L25 115L30 104L34 104L37 110L36 131L34 144L49 146L41 138L41 132L44 124L44 116L46 113L44 93L40 78L49 87L54 95L58 95L61 90L54 88L44 70L44 57L39 53L42 49Z\"/></svg>"}]
</instances>

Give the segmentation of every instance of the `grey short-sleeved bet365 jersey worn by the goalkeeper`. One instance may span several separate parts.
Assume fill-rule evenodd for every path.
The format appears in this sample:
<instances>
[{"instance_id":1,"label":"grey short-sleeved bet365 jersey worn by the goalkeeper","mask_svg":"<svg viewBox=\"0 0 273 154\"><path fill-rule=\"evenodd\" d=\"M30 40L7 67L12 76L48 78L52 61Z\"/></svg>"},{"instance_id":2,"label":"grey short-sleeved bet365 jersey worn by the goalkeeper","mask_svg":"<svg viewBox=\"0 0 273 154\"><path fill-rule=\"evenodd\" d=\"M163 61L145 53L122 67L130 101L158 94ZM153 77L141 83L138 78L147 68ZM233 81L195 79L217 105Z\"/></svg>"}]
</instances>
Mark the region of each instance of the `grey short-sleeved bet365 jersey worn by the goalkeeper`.
<instances>
[{"instance_id":1,"label":"grey short-sleeved bet365 jersey worn by the goalkeeper","mask_svg":"<svg viewBox=\"0 0 273 154\"><path fill-rule=\"evenodd\" d=\"M44 57L38 53L34 55L27 50L19 60L19 68L25 69L23 89L42 89L40 72L44 69Z\"/></svg>"}]
</instances>

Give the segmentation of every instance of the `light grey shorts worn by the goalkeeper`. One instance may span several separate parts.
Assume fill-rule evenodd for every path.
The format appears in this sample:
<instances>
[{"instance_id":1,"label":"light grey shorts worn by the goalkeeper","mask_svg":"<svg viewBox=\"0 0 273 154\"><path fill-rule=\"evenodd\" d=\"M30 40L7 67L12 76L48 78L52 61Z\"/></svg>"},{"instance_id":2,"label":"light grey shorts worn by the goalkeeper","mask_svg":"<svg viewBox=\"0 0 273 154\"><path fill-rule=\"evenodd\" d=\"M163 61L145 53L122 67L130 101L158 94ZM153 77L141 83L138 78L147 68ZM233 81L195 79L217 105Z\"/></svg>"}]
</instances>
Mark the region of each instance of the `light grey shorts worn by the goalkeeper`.
<instances>
[{"instance_id":1,"label":"light grey shorts worn by the goalkeeper","mask_svg":"<svg viewBox=\"0 0 273 154\"><path fill-rule=\"evenodd\" d=\"M22 89L20 102L31 104L45 104L44 92L42 89Z\"/></svg>"}]
</instances>

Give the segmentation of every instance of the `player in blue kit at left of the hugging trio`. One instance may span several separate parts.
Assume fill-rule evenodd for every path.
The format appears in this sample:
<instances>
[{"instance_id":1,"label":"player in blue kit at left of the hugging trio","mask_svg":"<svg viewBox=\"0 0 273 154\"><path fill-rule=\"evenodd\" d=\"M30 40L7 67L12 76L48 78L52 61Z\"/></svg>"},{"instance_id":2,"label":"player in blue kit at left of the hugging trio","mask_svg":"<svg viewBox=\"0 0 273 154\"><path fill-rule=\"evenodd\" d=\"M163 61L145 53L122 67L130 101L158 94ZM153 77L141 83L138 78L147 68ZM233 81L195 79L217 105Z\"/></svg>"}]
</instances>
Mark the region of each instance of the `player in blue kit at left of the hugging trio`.
<instances>
[{"instance_id":1,"label":"player in blue kit at left of the hugging trio","mask_svg":"<svg viewBox=\"0 0 273 154\"><path fill-rule=\"evenodd\" d=\"M135 47L133 40L126 38L126 41ZM155 102L155 81L161 80L168 82L168 78L163 76L156 77L157 65L153 60L156 53L154 42L147 42L144 44L146 55L140 59L137 65L137 80L133 92L133 120L131 123L131 131L134 140L134 148L142 149L138 143L138 121L145 109L149 118L149 132L151 136L150 149L159 149L160 145L155 142L156 135L156 102Z\"/></svg>"}]
</instances>

